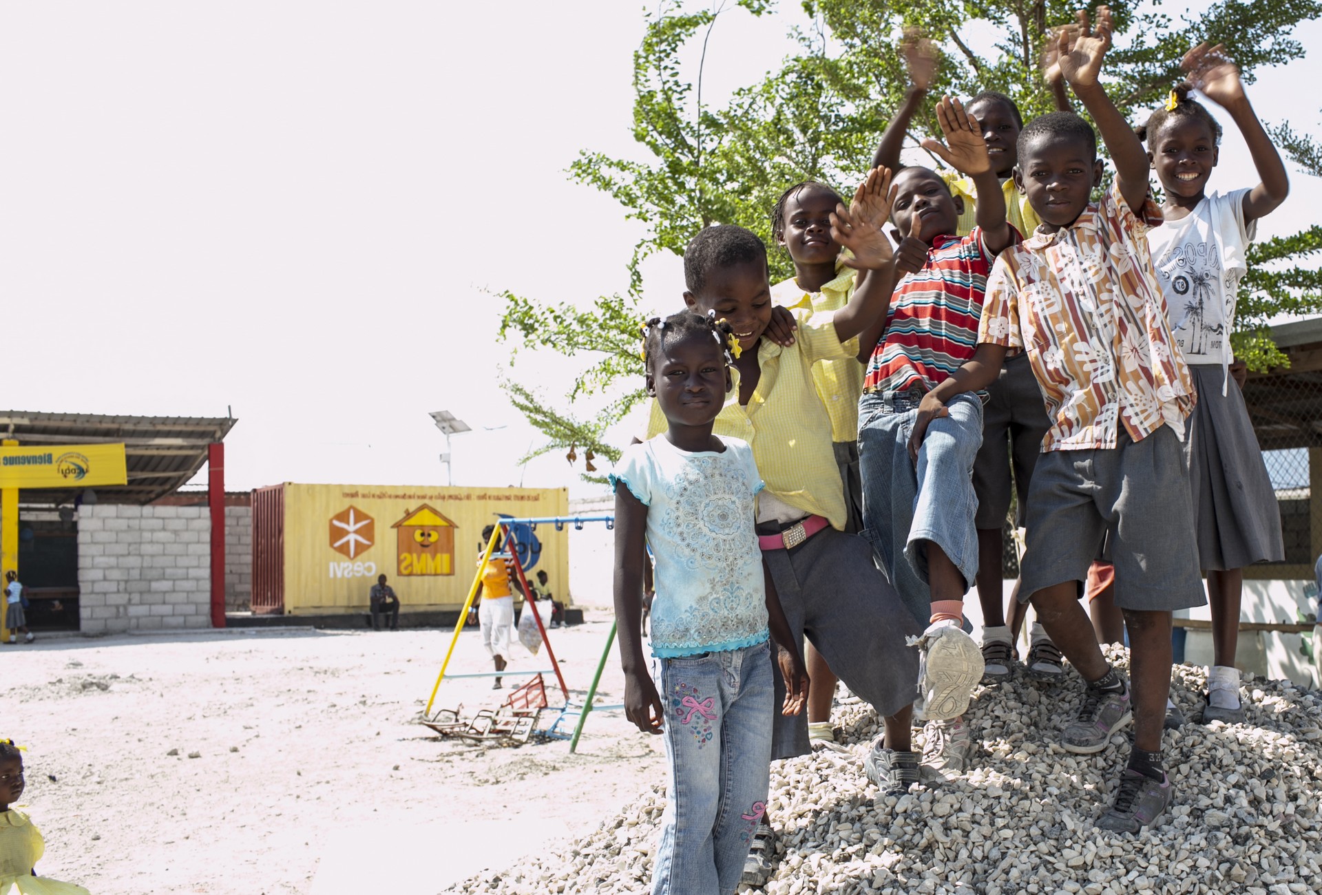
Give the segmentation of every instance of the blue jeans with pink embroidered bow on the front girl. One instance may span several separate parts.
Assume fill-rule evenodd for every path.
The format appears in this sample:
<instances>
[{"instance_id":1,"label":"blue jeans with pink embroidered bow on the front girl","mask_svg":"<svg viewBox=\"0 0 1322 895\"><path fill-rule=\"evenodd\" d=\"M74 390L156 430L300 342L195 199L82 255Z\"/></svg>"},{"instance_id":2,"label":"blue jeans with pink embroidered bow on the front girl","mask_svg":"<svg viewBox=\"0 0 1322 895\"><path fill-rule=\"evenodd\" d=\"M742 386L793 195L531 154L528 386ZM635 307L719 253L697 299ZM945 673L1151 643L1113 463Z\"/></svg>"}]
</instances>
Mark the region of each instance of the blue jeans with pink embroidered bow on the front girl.
<instances>
[{"instance_id":1,"label":"blue jeans with pink embroidered bow on the front girl","mask_svg":"<svg viewBox=\"0 0 1322 895\"><path fill-rule=\"evenodd\" d=\"M771 644L653 660L670 798L653 895L734 892L771 776Z\"/></svg>"}]
</instances>

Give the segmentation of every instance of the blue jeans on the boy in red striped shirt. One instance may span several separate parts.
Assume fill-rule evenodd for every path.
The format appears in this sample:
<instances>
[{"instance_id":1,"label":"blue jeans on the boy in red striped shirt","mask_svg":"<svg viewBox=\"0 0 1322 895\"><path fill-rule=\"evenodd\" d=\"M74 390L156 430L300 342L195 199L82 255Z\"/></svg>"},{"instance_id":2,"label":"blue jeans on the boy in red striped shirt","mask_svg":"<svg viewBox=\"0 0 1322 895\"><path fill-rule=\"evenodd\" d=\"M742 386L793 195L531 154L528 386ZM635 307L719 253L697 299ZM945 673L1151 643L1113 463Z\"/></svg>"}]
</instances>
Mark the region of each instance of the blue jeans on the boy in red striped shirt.
<instances>
[{"instance_id":1,"label":"blue jeans on the boy in red striped shirt","mask_svg":"<svg viewBox=\"0 0 1322 895\"><path fill-rule=\"evenodd\" d=\"M915 465L908 439L921 393L867 393L858 402L858 455L863 475L863 537L904 605L921 624L932 615L927 542L937 545L964 576L978 574L978 498L973 460L982 446L982 402L956 395L927 427Z\"/></svg>"}]
</instances>

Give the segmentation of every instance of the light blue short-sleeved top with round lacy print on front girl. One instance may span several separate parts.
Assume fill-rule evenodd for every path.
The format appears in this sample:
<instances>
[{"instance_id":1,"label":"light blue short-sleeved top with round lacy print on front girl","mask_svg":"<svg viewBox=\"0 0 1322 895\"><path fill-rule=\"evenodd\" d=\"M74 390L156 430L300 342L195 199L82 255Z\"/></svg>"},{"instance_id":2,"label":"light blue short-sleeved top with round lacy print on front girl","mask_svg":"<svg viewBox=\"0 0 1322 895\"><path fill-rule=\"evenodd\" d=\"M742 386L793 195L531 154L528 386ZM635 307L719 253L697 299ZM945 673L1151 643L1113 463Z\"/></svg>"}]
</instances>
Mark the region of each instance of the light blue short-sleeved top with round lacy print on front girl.
<instances>
[{"instance_id":1,"label":"light blue short-sleeved top with round lacy print on front girl","mask_svg":"<svg viewBox=\"0 0 1322 895\"><path fill-rule=\"evenodd\" d=\"M652 653L669 658L767 640L767 588L754 531L761 479L752 448L681 451L657 435L624 449L611 488L624 484L648 508L654 559Z\"/></svg>"}]
</instances>

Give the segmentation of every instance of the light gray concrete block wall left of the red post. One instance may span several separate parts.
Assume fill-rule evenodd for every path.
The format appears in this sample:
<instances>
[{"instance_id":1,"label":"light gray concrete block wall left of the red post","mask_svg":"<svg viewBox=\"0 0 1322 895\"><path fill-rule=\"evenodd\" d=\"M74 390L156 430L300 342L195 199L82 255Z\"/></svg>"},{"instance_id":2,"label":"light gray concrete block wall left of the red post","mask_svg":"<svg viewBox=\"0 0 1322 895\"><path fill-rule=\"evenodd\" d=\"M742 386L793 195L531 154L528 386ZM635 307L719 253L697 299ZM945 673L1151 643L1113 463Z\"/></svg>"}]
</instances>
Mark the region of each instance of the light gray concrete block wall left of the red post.
<instances>
[{"instance_id":1,"label":"light gray concrete block wall left of the red post","mask_svg":"<svg viewBox=\"0 0 1322 895\"><path fill-rule=\"evenodd\" d=\"M83 633L209 628L206 506L82 506L78 613Z\"/></svg>"}]
</instances>

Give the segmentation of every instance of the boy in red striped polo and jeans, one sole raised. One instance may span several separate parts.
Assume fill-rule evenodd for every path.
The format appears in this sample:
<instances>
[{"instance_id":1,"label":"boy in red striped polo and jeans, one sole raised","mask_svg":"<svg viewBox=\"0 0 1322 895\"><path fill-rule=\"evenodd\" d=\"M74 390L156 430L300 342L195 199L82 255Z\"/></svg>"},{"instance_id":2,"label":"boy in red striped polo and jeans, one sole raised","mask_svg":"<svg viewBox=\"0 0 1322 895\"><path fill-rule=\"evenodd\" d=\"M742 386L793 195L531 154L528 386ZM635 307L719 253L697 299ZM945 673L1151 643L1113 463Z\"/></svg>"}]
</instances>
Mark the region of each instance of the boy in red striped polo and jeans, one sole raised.
<instances>
[{"instance_id":1,"label":"boy in red striped polo and jeans, one sole raised","mask_svg":"<svg viewBox=\"0 0 1322 895\"><path fill-rule=\"evenodd\" d=\"M977 122L949 97L937 106L937 120L948 145L924 140L924 147L972 178L984 197L977 226L954 235L964 201L935 171L911 167L895 176L891 235L902 279L882 323L861 337L867 374L858 405L863 534L906 607L928 625L915 645L928 718L920 769L929 780L964 771L962 715L982 677L982 653L962 629L964 595L978 571L972 472L982 402L974 393L951 401L916 453L910 434L923 395L973 356L986 276L1017 235ZM914 763L912 754L880 754L867 771L884 777L890 765Z\"/></svg>"}]
</instances>

